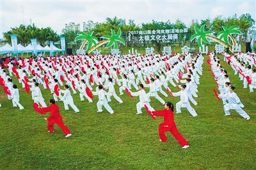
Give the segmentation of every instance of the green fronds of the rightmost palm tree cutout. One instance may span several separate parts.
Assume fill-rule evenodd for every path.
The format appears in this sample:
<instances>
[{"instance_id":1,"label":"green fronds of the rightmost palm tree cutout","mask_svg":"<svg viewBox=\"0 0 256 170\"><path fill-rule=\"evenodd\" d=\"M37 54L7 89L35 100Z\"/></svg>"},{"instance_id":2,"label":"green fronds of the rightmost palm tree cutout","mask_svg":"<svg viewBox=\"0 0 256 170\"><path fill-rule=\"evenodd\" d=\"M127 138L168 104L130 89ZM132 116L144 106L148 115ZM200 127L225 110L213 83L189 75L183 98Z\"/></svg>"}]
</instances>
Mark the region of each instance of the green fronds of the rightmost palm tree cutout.
<instances>
[{"instance_id":1,"label":"green fronds of the rightmost palm tree cutout","mask_svg":"<svg viewBox=\"0 0 256 170\"><path fill-rule=\"evenodd\" d=\"M236 40L234 40L234 37L232 34L241 35L241 31L238 29L238 26L230 26L227 28L226 26L222 26L223 31L220 31L217 36L220 36L220 41L223 40L225 43L230 45L228 42L228 37L231 39L232 44L236 45Z\"/></svg>"}]
</instances>

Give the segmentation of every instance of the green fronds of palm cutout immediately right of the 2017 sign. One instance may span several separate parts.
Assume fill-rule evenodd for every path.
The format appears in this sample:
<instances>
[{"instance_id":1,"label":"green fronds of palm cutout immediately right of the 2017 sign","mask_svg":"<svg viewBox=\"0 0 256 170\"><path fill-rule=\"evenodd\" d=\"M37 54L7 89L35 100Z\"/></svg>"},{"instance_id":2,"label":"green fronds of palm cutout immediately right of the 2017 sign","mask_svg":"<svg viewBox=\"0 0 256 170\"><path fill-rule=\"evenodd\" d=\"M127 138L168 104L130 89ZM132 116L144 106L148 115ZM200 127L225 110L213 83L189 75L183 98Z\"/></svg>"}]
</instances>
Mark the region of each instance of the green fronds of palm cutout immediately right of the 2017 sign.
<instances>
[{"instance_id":1,"label":"green fronds of palm cutout immediately right of the 2017 sign","mask_svg":"<svg viewBox=\"0 0 256 170\"><path fill-rule=\"evenodd\" d=\"M195 24L195 34L191 36L190 41L193 41L196 37L198 37L198 47L203 47L202 46L202 42L205 43L210 43L207 40L207 35L214 33L213 31L204 31L204 27L205 25L203 25L202 27L200 27L200 29L198 29L198 24Z\"/></svg>"}]
</instances>

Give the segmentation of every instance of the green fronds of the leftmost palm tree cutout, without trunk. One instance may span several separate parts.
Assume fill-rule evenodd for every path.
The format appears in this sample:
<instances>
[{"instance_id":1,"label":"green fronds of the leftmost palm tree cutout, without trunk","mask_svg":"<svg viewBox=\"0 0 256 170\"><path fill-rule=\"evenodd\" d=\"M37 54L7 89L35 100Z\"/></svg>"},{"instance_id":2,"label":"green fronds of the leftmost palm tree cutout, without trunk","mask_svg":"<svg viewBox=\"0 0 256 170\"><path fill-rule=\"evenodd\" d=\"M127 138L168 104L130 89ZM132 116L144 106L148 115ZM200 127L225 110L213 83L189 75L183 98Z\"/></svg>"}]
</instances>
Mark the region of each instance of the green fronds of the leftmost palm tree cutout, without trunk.
<instances>
[{"instance_id":1,"label":"green fronds of the leftmost palm tree cutout, without trunk","mask_svg":"<svg viewBox=\"0 0 256 170\"><path fill-rule=\"evenodd\" d=\"M83 31L80 31L77 33L77 36L75 38L75 41L78 41L78 40L84 40L83 44L81 45L80 49L83 49L84 48L84 45L86 43L87 44L87 47L86 47L86 51L88 49L91 49L92 46L94 45L96 47L97 45L97 42L99 42L98 38L96 36L93 36L93 32L94 31L90 31L88 34L87 33L84 33Z\"/></svg>"}]
</instances>

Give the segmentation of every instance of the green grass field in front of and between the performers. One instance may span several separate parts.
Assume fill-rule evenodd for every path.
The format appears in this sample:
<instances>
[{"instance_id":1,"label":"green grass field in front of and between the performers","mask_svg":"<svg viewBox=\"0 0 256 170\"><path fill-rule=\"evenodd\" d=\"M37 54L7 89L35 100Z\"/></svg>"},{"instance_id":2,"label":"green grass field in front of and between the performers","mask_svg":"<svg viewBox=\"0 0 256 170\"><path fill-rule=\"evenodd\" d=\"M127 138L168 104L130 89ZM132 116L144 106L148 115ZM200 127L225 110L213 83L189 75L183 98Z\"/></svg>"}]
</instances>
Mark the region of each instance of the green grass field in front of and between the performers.
<instances>
[{"instance_id":1,"label":"green grass field in front of and between the performers","mask_svg":"<svg viewBox=\"0 0 256 170\"><path fill-rule=\"evenodd\" d=\"M220 58L251 120L244 120L234 111L224 116L222 102L212 91L216 85L205 56L195 98L198 105L192 105L198 116L193 118L185 108L182 114L175 114L177 127L190 145L186 150L170 133L166 143L159 142L158 125L163 118L153 120L145 109L136 115L139 98L126 93L120 96L124 104L114 98L109 103L113 115L106 109L97 113L97 97L89 104L80 102L78 93L73 95L81 111L78 114L71 108L64 111L63 102L58 102L63 121L72 132L65 138L56 125L54 133L47 132L45 116L33 110L31 95L21 89L21 84L22 111L12 107L12 101L1 90L0 169L256 169L256 92L243 89L243 82ZM119 94L117 87L116 92ZM42 89L42 93L47 103L52 95L49 90ZM174 104L179 101L179 97L160 96ZM150 104L156 110L163 109L155 98Z\"/></svg>"}]
</instances>

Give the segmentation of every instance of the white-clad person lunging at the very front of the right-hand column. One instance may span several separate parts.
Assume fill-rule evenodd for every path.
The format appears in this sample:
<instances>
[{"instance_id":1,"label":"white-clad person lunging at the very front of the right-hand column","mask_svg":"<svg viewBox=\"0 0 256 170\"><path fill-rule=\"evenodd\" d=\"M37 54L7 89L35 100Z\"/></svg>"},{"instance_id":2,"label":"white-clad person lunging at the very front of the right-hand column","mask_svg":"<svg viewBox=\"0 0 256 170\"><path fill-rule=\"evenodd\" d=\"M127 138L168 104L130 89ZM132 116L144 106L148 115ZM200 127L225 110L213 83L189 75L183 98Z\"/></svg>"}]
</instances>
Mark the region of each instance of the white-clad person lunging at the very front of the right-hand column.
<instances>
[{"instance_id":1,"label":"white-clad person lunging at the very front of the right-hand column","mask_svg":"<svg viewBox=\"0 0 256 170\"><path fill-rule=\"evenodd\" d=\"M241 103L239 97L234 92L234 89L234 86L230 86L229 93L225 95L219 95L220 98L226 98L228 100L228 103L223 106L225 116L230 116L230 109L234 109L244 119L250 120L250 116L241 108L244 107L244 105Z\"/></svg>"}]
</instances>

